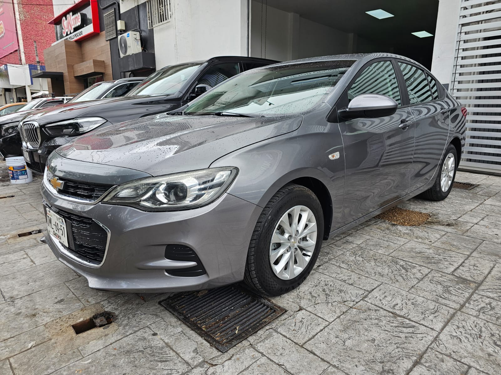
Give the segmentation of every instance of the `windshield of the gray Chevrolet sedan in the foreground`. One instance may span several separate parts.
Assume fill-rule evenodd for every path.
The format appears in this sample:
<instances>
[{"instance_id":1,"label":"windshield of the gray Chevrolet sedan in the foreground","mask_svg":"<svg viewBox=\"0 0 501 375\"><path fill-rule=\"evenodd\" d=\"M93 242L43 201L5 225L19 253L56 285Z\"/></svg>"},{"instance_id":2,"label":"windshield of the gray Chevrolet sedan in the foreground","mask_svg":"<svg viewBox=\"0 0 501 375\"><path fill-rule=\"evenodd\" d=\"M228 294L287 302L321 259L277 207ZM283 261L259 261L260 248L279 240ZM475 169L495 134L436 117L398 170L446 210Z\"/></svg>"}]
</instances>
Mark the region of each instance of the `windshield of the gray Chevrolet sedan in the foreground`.
<instances>
[{"instance_id":1,"label":"windshield of the gray Chevrolet sedan in the foreground","mask_svg":"<svg viewBox=\"0 0 501 375\"><path fill-rule=\"evenodd\" d=\"M296 114L315 107L354 60L307 62L253 69L195 99L184 114Z\"/></svg>"}]
</instances>

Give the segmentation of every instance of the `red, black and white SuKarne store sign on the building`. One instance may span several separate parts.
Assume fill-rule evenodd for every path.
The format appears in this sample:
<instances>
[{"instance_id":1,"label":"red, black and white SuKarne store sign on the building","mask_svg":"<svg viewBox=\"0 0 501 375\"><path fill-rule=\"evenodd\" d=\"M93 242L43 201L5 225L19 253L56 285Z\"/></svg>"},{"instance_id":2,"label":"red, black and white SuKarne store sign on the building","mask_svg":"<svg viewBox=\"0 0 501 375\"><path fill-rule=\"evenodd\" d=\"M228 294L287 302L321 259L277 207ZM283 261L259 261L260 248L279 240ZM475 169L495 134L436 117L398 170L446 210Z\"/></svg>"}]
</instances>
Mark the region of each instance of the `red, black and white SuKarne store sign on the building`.
<instances>
[{"instance_id":1,"label":"red, black and white SuKarne store sign on the building","mask_svg":"<svg viewBox=\"0 0 501 375\"><path fill-rule=\"evenodd\" d=\"M56 27L57 40L84 40L99 34L97 0L80 0L49 23Z\"/></svg>"}]
</instances>

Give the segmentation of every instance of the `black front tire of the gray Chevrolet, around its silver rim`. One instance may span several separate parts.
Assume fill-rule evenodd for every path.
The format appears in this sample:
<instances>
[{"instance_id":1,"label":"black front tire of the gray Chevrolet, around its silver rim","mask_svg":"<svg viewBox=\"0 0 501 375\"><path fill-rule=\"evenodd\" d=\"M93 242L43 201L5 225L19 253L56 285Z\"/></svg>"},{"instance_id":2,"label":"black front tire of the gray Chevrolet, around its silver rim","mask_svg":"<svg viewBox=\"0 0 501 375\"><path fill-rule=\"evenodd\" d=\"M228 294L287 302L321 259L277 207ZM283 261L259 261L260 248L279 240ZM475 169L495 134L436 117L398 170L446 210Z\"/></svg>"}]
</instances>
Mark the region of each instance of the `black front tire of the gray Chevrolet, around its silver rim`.
<instances>
[{"instance_id":1,"label":"black front tire of the gray Chevrolet, around its silver rim","mask_svg":"<svg viewBox=\"0 0 501 375\"><path fill-rule=\"evenodd\" d=\"M317 243L310 261L296 277L284 280L278 277L270 264L270 243L275 227L285 212L296 205L308 207L317 222ZM308 188L288 184L282 187L263 208L250 239L244 282L259 293L280 295L299 286L310 274L317 261L324 237L324 215L317 196Z\"/></svg>"}]
</instances>

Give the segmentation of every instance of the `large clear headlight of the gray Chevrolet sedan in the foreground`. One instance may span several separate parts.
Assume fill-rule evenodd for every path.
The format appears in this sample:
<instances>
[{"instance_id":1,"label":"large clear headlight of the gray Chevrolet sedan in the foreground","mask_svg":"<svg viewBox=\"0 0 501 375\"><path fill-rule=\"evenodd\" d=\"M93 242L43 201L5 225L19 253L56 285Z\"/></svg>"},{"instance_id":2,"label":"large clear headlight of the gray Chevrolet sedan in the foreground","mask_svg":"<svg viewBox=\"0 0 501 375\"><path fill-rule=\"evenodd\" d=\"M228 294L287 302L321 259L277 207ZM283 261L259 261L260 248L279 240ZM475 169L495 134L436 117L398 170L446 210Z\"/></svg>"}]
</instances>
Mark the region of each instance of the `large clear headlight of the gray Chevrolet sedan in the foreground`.
<instances>
[{"instance_id":1,"label":"large clear headlight of the gray Chevrolet sedan in the foreground","mask_svg":"<svg viewBox=\"0 0 501 375\"><path fill-rule=\"evenodd\" d=\"M235 167L221 167L142 178L115 187L103 202L146 211L200 207L221 196L237 172Z\"/></svg>"}]
</instances>

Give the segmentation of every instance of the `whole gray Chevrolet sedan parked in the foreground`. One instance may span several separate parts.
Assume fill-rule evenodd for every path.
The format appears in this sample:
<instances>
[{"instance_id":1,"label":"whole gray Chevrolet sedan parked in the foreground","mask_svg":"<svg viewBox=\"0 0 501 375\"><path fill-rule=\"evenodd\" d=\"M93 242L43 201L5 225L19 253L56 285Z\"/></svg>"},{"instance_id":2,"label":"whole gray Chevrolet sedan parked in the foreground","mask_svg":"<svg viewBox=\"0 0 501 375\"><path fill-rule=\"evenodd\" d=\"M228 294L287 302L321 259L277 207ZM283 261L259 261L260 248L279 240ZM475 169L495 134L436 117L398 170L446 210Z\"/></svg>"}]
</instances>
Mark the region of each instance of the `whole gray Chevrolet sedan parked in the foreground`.
<instances>
[{"instance_id":1,"label":"whole gray Chevrolet sedan parked in the foreground","mask_svg":"<svg viewBox=\"0 0 501 375\"><path fill-rule=\"evenodd\" d=\"M175 112L53 152L42 193L56 256L89 286L179 291L244 280L285 293L322 240L402 200L449 194L466 110L383 53L246 71Z\"/></svg>"}]
</instances>

